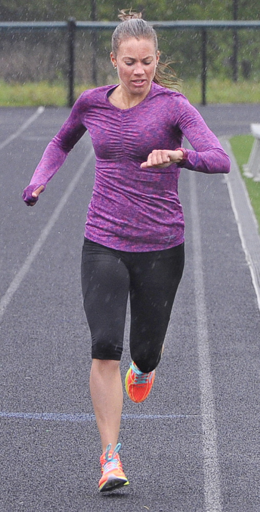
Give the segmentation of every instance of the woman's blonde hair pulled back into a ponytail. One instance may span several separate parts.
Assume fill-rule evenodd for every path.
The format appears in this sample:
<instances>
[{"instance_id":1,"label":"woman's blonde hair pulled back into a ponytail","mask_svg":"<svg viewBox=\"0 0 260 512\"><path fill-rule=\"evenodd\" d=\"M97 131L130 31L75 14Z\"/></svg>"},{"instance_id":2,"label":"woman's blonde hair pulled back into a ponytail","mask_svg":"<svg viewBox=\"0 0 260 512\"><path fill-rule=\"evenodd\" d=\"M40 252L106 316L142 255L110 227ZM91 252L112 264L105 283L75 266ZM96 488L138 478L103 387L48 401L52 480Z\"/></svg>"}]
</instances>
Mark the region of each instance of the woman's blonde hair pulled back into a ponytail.
<instances>
[{"instance_id":1,"label":"woman's blonde hair pulled back into a ponytail","mask_svg":"<svg viewBox=\"0 0 260 512\"><path fill-rule=\"evenodd\" d=\"M150 39L154 43L155 50L158 50L156 31L142 19L141 12L135 12L132 9L122 9L119 11L118 17L122 23L117 26L112 35L112 52L115 57L122 40L130 37ZM170 62L161 62L159 60L153 81L158 83L159 86L179 90L179 81L175 71L170 66Z\"/></svg>"}]
</instances>

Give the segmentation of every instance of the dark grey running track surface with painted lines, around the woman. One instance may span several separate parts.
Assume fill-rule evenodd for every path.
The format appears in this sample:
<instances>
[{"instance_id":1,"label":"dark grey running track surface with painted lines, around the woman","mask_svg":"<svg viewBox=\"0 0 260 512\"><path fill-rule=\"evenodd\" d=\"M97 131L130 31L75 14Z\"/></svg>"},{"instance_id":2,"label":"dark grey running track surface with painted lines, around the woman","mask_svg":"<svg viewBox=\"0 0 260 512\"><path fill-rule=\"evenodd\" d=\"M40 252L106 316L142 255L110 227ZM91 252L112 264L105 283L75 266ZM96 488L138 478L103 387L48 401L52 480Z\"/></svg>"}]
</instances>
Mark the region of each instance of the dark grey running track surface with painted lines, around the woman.
<instances>
[{"instance_id":1,"label":"dark grey running track surface with painted lines, around the woman","mask_svg":"<svg viewBox=\"0 0 260 512\"><path fill-rule=\"evenodd\" d=\"M260 120L260 105L199 110L218 136ZM186 266L165 352L147 401L125 396L131 485L100 495L79 272L94 158L84 136L26 207L21 192L69 113L36 111L0 109L1 512L258 512L260 315L226 180L181 173Z\"/></svg>"}]
</instances>

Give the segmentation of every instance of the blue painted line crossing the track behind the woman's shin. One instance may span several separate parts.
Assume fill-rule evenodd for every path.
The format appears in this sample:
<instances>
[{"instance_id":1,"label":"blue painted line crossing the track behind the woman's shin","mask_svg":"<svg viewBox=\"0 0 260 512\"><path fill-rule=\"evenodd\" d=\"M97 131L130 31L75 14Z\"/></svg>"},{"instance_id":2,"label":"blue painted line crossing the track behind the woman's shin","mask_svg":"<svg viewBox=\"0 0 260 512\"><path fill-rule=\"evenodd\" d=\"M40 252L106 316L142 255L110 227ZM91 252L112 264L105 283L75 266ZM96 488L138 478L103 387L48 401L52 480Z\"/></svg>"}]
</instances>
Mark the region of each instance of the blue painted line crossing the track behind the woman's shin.
<instances>
[{"instance_id":1,"label":"blue painted line crossing the track behind the woman's shin","mask_svg":"<svg viewBox=\"0 0 260 512\"><path fill-rule=\"evenodd\" d=\"M193 418L198 417L197 414L122 414L122 419L177 419L177 418ZM21 413L21 412L7 412L0 411L2 418L21 418L21 419L36 419L44 421L93 421L95 420L94 414L62 414L62 413Z\"/></svg>"}]
</instances>

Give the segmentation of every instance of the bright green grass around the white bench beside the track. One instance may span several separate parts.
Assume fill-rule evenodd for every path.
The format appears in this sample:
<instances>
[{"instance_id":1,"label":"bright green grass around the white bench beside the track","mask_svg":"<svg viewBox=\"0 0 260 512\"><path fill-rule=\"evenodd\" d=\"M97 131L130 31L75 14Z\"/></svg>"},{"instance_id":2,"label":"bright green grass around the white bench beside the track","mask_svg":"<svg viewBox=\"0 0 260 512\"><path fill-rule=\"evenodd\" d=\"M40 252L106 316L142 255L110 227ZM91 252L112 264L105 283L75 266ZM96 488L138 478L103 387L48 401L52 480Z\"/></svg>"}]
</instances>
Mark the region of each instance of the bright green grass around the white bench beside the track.
<instances>
[{"instance_id":1,"label":"bright green grass around the white bench beside the track","mask_svg":"<svg viewBox=\"0 0 260 512\"><path fill-rule=\"evenodd\" d=\"M237 164L240 167L243 179L245 180L249 198L255 212L255 217L260 227L260 182L253 181L243 175L243 165L247 163L253 144L252 135L236 135L230 139L231 148Z\"/></svg>"}]
</instances>

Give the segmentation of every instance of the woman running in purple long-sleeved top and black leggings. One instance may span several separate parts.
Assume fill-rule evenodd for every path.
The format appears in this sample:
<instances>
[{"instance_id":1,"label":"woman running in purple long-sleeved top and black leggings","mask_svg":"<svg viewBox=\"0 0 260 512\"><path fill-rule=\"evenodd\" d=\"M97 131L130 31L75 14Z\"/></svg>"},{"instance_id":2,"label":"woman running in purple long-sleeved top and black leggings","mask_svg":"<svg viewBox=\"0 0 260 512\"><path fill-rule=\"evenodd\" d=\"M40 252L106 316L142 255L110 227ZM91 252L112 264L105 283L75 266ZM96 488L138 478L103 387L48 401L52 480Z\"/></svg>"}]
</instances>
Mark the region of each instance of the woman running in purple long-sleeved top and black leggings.
<instances>
[{"instance_id":1,"label":"woman running in purple long-sleeved top and black leggings","mask_svg":"<svg viewBox=\"0 0 260 512\"><path fill-rule=\"evenodd\" d=\"M132 362L125 377L134 402L153 386L184 267L180 168L228 173L230 162L198 111L158 72L154 29L121 12L111 61L119 84L85 91L47 146L24 190L33 206L69 151L89 131L96 155L82 248L83 304L92 337L90 391L102 455L99 490L129 482L118 451L123 392L120 359L127 297ZM182 147L184 136L192 150Z\"/></svg>"}]
</instances>

